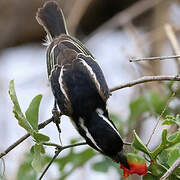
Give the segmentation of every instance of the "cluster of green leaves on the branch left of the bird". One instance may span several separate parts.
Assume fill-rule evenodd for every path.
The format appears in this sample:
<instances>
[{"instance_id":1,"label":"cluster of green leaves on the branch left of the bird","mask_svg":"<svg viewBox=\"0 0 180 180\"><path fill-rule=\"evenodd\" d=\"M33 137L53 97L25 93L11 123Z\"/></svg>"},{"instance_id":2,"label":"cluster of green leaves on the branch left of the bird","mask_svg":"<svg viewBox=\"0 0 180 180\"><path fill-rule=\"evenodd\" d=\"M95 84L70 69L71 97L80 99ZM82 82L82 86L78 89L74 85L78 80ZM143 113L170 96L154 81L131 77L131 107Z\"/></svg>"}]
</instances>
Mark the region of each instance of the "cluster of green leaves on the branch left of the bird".
<instances>
[{"instance_id":1,"label":"cluster of green leaves on the branch left of the bird","mask_svg":"<svg viewBox=\"0 0 180 180\"><path fill-rule=\"evenodd\" d=\"M32 152L34 155L32 166L37 172L40 172L44 165L43 154L45 153L45 150L43 147L43 143L50 140L48 136L38 132L38 114L42 95L37 95L33 98L25 115L21 111L16 96L14 81L10 82L9 95L14 104L13 113L15 115L15 118L18 120L19 125L24 128L34 138L34 141L36 142L36 144L32 147Z\"/></svg>"}]
</instances>

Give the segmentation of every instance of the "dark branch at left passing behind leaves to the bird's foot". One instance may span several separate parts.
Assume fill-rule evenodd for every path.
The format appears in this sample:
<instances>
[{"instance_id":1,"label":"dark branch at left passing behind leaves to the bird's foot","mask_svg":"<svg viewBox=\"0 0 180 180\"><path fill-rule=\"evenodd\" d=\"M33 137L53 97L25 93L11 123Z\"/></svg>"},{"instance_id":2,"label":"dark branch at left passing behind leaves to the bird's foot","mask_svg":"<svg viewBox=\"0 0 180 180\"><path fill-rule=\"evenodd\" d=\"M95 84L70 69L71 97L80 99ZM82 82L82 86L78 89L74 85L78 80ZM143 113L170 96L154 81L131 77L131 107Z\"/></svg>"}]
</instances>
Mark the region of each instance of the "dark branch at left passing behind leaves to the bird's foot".
<instances>
[{"instance_id":1,"label":"dark branch at left passing behind leaves to the bird's foot","mask_svg":"<svg viewBox=\"0 0 180 180\"><path fill-rule=\"evenodd\" d=\"M50 122L52 122L53 119L50 118L42 123L39 124L39 129L43 129L45 126L47 126ZM20 139L18 139L15 143L13 143L12 145L10 145L3 153L0 154L0 158L2 158L3 156L5 156L7 153L9 153L10 151L12 151L16 146L18 146L20 143L22 143L25 139L27 139L30 136L29 133L25 134L24 136L22 136Z\"/></svg>"}]
</instances>

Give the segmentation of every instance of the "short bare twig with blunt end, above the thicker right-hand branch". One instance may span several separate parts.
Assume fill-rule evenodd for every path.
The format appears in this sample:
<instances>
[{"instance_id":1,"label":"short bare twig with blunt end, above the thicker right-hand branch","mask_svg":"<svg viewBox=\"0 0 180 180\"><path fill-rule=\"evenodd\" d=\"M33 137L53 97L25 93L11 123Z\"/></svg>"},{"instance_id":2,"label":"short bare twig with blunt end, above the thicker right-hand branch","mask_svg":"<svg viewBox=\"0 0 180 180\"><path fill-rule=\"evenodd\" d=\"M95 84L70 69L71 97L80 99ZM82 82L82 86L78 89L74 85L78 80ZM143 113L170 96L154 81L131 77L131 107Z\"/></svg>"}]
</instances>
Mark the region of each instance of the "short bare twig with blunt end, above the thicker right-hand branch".
<instances>
[{"instance_id":1,"label":"short bare twig with blunt end, above the thicker right-hand branch","mask_svg":"<svg viewBox=\"0 0 180 180\"><path fill-rule=\"evenodd\" d=\"M166 60L172 58L180 58L180 55L172 55L172 56L158 56L158 57L147 57L147 58L130 58L129 62L137 62L137 61L156 61L156 60Z\"/></svg>"}]
</instances>

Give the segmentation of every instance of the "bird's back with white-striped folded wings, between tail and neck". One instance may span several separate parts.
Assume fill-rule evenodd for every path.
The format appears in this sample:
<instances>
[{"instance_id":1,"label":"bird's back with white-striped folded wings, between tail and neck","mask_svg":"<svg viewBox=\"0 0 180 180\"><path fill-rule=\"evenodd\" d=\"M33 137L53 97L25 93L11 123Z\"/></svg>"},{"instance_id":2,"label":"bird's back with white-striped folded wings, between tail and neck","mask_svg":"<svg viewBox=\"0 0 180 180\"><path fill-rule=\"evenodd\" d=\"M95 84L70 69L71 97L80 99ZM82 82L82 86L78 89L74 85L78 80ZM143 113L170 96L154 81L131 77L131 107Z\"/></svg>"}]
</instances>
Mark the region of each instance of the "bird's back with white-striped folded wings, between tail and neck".
<instances>
[{"instance_id":1,"label":"bird's back with white-striped folded wings, between tail and neck","mask_svg":"<svg viewBox=\"0 0 180 180\"><path fill-rule=\"evenodd\" d=\"M102 70L78 42L61 35L49 46L47 57L49 79L62 113L82 114L106 104L109 89Z\"/></svg>"}]
</instances>

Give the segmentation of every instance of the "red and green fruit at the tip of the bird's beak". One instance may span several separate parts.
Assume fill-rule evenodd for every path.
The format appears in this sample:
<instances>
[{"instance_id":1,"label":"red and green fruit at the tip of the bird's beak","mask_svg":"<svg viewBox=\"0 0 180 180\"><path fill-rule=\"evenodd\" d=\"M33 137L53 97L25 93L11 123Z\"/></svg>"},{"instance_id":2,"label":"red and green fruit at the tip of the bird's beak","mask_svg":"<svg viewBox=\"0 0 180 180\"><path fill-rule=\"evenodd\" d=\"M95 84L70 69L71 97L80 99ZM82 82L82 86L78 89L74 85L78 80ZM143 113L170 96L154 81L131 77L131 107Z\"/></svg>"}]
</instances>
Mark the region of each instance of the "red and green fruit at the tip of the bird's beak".
<instances>
[{"instance_id":1,"label":"red and green fruit at the tip of the bird's beak","mask_svg":"<svg viewBox=\"0 0 180 180\"><path fill-rule=\"evenodd\" d=\"M127 169L123 165L120 166L120 168L123 169L124 178L127 178L130 174L147 175L147 166L144 158L136 154L128 153L127 161L130 169Z\"/></svg>"}]
</instances>

